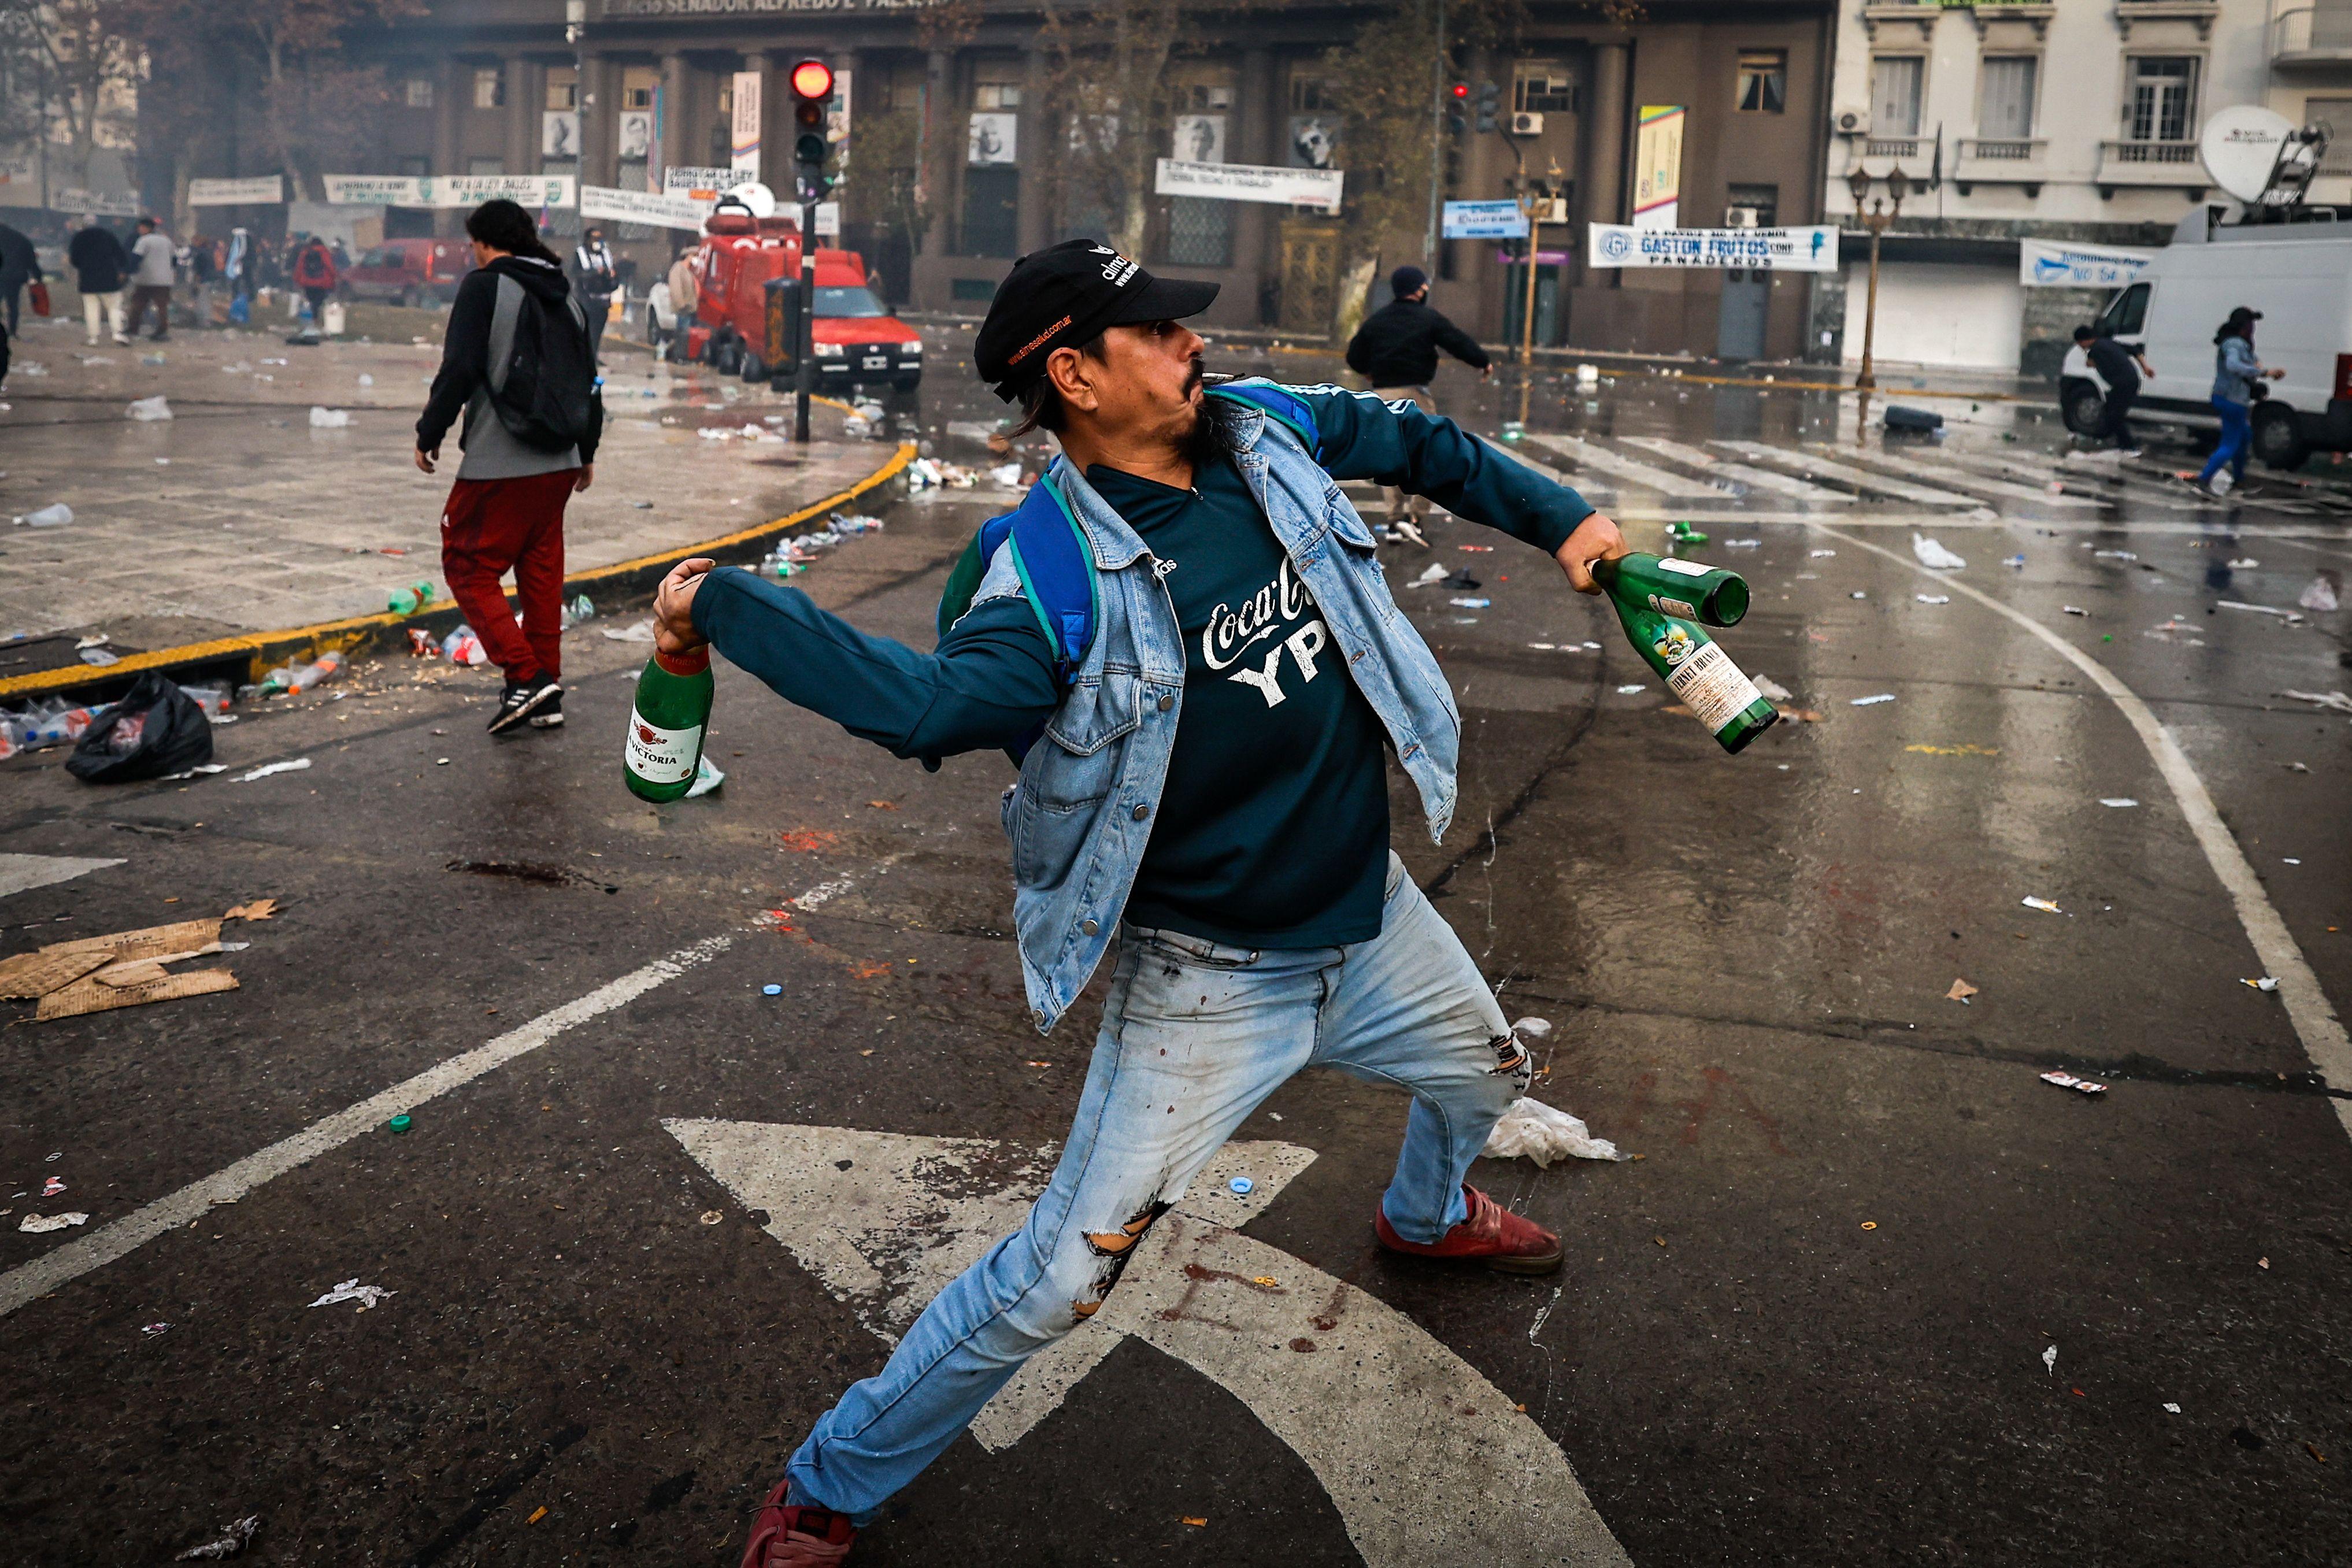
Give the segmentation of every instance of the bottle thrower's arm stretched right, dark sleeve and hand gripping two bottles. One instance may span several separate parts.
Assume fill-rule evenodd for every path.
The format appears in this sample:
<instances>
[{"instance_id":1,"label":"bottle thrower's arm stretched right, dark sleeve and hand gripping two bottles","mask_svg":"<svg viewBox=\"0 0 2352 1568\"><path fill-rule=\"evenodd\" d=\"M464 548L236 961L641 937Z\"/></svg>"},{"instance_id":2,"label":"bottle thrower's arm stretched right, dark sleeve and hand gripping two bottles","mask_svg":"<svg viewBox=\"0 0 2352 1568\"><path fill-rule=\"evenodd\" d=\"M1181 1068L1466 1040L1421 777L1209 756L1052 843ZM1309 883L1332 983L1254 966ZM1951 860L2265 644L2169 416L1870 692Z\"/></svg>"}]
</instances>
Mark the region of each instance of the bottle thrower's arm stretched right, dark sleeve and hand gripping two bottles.
<instances>
[{"instance_id":1,"label":"bottle thrower's arm stretched right, dark sleeve and hand gripping two bottles","mask_svg":"<svg viewBox=\"0 0 2352 1568\"><path fill-rule=\"evenodd\" d=\"M1566 484L1503 456L1451 418L1369 393L1289 388L1315 409L1322 465L1334 480L1378 480L1428 496L1559 562L1578 592L1599 592L1592 562L1625 555L1616 524Z\"/></svg>"}]
</instances>

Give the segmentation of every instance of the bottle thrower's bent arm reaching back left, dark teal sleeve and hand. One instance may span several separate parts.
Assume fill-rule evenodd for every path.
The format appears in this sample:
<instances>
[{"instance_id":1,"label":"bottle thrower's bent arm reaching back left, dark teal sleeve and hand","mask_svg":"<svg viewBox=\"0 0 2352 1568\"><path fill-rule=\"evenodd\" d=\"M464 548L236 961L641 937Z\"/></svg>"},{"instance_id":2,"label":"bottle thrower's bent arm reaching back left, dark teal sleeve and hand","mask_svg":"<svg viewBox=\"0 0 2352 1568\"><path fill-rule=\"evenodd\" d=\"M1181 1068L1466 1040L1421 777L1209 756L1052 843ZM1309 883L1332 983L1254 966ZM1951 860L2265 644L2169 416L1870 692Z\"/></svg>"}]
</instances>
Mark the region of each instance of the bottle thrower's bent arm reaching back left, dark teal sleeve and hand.
<instances>
[{"instance_id":1,"label":"bottle thrower's bent arm reaching back left, dark teal sleeve and hand","mask_svg":"<svg viewBox=\"0 0 2352 1568\"><path fill-rule=\"evenodd\" d=\"M654 599L668 651L715 646L776 696L898 757L1011 745L1061 705L1054 654L1028 602L974 604L917 654L818 609L797 588L708 559L680 562Z\"/></svg>"}]
</instances>

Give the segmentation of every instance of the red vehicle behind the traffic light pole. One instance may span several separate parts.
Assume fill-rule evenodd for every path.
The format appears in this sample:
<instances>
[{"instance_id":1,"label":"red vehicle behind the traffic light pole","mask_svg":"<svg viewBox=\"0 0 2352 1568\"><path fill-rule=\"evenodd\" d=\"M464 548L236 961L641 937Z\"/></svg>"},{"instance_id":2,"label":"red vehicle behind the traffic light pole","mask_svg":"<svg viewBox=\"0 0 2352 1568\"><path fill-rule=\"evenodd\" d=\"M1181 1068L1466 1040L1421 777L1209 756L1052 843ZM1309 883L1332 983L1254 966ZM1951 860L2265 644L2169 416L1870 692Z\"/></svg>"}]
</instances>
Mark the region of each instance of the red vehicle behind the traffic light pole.
<instances>
[{"instance_id":1,"label":"red vehicle behind the traffic light pole","mask_svg":"<svg viewBox=\"0 0 2352 1568\"><path fill-rule=\"evenodd\" d=\"M767 381L767 284L800 277L800 228L790 219L757 219L743 207L720 207L703 223L694 259L694 322L682 350L720 374ZM922 336L894 317L866 287L866 259L816 247L816 386L889 386L913 393L922 383Z\"/></svg>"}]
</instances>

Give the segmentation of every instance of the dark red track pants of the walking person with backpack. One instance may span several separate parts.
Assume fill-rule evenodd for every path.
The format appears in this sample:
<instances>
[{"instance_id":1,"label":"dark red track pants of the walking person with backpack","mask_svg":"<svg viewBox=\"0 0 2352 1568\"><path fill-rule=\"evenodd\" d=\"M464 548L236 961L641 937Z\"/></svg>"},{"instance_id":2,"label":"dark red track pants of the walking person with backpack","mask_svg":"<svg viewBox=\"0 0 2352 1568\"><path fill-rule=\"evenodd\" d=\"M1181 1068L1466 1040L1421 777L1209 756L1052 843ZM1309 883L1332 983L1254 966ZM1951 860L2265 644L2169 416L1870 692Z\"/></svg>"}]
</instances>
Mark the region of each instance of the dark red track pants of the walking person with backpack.
<instances>
[{"instance_id":1,"label":"dark red track pants of the walking person with backpack","mask_svg":"<svg viewBox=\"0 0 2352 1568\"><path fill-rule=\"evenodd\" d=\"M562 679L564 501L576 468L524 480L459 480L442 510L442 576L482 651L510 682ZM522 625L499 578L513 569Z\"/></svg>"}]
</instances>

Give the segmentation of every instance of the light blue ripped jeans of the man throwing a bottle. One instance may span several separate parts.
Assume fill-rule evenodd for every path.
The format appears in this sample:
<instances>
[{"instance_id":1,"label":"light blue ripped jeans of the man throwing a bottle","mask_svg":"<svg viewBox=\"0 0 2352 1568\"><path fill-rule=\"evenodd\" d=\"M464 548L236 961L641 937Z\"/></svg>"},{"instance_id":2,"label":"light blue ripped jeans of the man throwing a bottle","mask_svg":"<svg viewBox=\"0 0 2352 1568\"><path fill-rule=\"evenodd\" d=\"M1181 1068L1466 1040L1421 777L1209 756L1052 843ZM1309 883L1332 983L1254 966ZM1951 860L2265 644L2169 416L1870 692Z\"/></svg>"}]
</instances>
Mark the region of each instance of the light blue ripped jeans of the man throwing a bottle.
<instances>
[{"instance_id":1,"label":"light blue ripped jeans of the man throwing a bottle","mask_svg":"<svg viewBox=\"0 0 2352 1568\"><path fill-rule=\"evenodd\" d=\"M1018 1232L922 1309L889 1366L816 1422L786 1472L790 1500L858 1523L880 1512L1023 1361L1094 1316L1150 1222L1301 1067L1414 1095L1381 1197L1397 1234L1437 1241L1468 1215L1463 1175L1526 1093L1529 1063L1395 856L1369 943L1254 952L1122 929L1054 1180Z\"/></svg>"}]
</instances>

